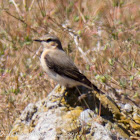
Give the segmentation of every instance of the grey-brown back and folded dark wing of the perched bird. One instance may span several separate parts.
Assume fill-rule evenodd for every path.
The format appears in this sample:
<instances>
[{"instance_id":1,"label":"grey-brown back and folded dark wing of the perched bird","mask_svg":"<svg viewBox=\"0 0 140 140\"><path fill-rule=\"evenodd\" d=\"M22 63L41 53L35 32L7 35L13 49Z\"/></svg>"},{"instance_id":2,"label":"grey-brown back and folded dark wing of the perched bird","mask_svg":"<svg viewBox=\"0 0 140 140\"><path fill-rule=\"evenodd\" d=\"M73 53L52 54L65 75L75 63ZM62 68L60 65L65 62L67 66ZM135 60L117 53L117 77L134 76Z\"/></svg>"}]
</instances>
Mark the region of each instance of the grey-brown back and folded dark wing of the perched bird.
<instances>
[{"instance_id":1,"label":"grey-brown back and folded dark wing of the perched bird","mask_svg":"<svg viewBox=\"0 0 140 140\"><path fill-rule=\"evenodd\" d=\"M59 57L57 55L59 55ZM46 54L45 61L47 66L59 75L69 77L87 85L88 87L98 90L95 85L93 85L82 73L79 72L72 60L63 51L58 54Z\"/></svg>"}]
</instances>

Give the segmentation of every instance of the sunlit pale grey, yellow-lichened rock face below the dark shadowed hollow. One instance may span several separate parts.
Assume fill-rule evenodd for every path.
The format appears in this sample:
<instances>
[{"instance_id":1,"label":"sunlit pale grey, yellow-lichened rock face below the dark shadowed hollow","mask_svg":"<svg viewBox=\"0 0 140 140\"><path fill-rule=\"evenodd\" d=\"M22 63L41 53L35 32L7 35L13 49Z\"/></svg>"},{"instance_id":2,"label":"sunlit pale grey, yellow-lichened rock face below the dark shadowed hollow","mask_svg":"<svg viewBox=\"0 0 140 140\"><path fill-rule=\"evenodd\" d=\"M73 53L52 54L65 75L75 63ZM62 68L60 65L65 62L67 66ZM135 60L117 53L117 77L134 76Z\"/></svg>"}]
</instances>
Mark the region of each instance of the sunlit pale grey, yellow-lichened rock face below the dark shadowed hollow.
<instances>
[{"instance_id":1,"label":"sunlit pale grey, yellow-lichened rock face below the dark shadowed hollow","mask_svg":"<svg viewBox=\"0 0 140 140\"><path fill-rule=\"evenodd\" d=\"M58 85L47 98L30 103L15 121L7 140L126 139L112 128L112 122L95 114L94 110L75 101L69 104L71 97L63 98L58 104L64 90Z\"/></svg>"}]
</instances>

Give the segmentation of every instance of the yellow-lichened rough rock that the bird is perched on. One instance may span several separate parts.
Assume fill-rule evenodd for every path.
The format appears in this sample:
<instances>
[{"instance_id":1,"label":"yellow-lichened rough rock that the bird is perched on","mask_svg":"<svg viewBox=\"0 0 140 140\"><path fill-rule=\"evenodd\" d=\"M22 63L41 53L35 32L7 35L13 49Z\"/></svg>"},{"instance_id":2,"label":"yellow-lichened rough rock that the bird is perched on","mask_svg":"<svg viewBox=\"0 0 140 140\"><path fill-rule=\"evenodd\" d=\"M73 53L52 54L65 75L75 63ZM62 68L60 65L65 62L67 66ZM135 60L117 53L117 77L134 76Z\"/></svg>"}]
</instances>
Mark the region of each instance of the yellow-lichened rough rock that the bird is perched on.
<instances>
[{"instance_id":1,"label":"yellow-lichened rough rock that the bird is perched on","mask_svg":"<svg viewBox=\"0 0 140 140\"><path fill-rule=\"evenodd\" d=\"M72 89L59 104L65 88L58 85L47 98L29 104L13 124L6 140L125 140L139 136L139 119L136 123L123 115L117 104L106 95L83 87L79 90L86 95L84 98L79 100L79 93ZM137 114L138 111L133 118L138 118ZM124 120L125 124L128 120L129 127L134 126L135 135L133 131L129 133Z\"/></svg>"}]
</instances>

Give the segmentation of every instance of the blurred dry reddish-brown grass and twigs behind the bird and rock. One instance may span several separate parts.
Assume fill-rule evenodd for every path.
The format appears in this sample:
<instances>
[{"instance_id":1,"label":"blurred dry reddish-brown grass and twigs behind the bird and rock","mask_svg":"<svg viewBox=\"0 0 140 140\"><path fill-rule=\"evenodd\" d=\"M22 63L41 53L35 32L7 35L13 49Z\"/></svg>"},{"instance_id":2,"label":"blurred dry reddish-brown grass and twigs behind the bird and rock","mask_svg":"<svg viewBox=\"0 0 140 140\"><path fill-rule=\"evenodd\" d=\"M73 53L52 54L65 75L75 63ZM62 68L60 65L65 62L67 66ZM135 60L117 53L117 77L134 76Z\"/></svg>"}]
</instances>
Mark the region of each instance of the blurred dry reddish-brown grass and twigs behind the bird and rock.
<instances>
[{"instance_id":1,"label":"blurred dry reddish-brown grass and twigs behind the bird and rock","mask_svg":"<svg viewBox=\"0 0 140 140\"><path fill-rule=\"evenodd\" d=\"M0 138L27 104L55 87L32 41L46 33L60 38L99 88L140 105L139 6L139 0L0 0Z\"/></svg>"}]
</instances>

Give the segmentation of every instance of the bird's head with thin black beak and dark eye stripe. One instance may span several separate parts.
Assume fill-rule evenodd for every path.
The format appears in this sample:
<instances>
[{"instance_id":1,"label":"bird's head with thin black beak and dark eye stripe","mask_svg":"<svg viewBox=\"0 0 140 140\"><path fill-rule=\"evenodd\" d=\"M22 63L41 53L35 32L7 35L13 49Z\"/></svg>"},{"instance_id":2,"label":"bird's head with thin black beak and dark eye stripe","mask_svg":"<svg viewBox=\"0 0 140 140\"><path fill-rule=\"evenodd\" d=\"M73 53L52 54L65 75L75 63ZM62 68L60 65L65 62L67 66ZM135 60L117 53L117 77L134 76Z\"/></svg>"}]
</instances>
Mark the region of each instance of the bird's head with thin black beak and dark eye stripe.
<instances>
[{"instance_id":1,"label":"bird's head with thin black beak and dark eye stripe","mask_svg":"<svg viewBox=\"0 0 140 140\"><path fill-rule=\"evenodd\" d=\"M45 35L41 37L40 39L34 39L33 41L40 42L44 48L46 49L59 49L63 50L61 42L59 38L53 35Z\"/></svg>"}]
</instances>

